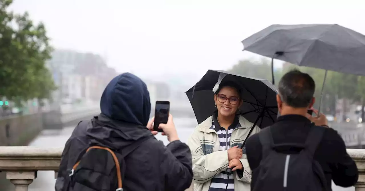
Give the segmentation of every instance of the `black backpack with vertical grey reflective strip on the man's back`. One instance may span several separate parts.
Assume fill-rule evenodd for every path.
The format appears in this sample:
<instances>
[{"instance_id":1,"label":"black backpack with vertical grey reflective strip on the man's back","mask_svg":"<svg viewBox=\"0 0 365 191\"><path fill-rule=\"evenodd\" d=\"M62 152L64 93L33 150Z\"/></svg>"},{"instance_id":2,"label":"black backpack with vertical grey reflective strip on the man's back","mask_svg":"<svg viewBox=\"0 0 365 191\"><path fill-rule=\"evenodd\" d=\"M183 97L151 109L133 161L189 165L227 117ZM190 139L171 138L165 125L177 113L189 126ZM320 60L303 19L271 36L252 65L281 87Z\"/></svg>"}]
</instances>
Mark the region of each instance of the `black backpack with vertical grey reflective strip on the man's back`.
<instances>
[{"instance_id":1,"label":"black backpack with vertical grey reflective strip on the man's back","mask_svg":"<svg viewBox=\"0 0 365 191\"><path fill-rule=\"evenodd\" d=\"M253 191L325 191L326 179L320 164L313 159L324 128L312 126L304 144L274 144L270 127L260 134L262 160ZM290 148L297 154L284 154Z\"/></svg>"}]
</instances>

